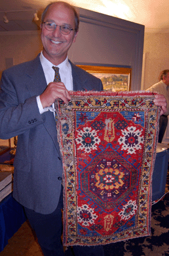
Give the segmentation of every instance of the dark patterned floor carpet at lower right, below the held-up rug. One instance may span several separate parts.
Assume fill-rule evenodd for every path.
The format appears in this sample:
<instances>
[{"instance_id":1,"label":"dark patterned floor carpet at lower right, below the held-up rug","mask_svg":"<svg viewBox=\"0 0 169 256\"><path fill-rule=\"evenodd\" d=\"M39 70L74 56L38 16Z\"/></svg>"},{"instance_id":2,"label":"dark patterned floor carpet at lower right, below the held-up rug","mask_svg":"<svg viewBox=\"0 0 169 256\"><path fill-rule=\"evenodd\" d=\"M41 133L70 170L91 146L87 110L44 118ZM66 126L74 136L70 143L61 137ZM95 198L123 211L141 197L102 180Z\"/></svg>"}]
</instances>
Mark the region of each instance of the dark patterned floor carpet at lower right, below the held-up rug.
<instances>
[{"instance_id":1,"label":"dark patterned floor carpet at lower right, below the held-up rug","mask_svg":"<svg viewBox=\"0 0 169 256\"><path fill-rule=\"evenodd\" d=\"M151 236L103 246L105 256L168 256L169 194L152 206Z\"/></svg>"}]
</instances>

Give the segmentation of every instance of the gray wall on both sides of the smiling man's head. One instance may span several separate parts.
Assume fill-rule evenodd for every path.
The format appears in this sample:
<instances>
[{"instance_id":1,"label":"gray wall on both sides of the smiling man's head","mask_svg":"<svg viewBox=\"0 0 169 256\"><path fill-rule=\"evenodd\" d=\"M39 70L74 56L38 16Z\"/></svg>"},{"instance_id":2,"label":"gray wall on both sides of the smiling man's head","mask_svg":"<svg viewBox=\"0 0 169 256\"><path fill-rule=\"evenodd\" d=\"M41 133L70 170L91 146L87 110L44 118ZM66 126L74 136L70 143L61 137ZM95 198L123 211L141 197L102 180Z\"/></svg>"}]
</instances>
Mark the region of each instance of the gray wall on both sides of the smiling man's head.
<instances>
[{"instance_id":1,"label":"gray wall on both sides of the smiling man's head","mask_svg":"<svg viewBox=\"0 0 169 256\"><path fill-rule=\"evenodd\" d=\"M71 61L132 68L131 89L140 90L144 26L81 8L79 13L80 30L69 51ZM33 59L41 51L41 42L37 32L1 35L0 49L2 71L7 58L14 64Z\"/></svg>"}]
</instances>

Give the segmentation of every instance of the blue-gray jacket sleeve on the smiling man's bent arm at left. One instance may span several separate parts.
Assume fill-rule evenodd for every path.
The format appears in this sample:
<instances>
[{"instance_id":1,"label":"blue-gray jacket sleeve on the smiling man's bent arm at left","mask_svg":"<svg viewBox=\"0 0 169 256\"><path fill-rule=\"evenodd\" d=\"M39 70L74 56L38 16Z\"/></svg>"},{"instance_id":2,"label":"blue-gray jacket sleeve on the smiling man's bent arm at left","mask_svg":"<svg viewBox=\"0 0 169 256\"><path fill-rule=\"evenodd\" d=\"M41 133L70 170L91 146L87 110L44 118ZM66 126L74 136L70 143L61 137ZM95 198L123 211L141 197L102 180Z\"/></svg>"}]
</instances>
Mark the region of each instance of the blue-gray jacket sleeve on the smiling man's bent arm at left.
<instances>
[{"instance_id":1,"label":"blue-gray jacket sleeve on the smiling man's bent arm at left","mask_svg":"<svg viewBox=\"0 0 169 256\"><path fill-rule=\"evenodd\" d=\"M44 122L36 95L31 96L24 81L4 71L0 83L0 138L9 139Z\"/></svg>"}]
</instances>

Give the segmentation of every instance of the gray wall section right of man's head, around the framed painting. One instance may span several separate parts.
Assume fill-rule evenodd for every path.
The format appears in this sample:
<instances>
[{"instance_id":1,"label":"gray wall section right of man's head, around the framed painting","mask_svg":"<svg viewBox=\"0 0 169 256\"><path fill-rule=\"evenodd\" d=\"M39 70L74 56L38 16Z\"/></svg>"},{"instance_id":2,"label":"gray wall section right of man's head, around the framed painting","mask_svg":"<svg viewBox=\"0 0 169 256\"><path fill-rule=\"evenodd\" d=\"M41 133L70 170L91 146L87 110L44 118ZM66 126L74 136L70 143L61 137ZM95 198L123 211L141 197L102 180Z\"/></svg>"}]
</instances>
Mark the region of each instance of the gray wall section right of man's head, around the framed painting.
<instances>
[{"instance_id":1,"label":"gray wall section right of man's head, around the framed painting","mask_svg":"<svg viewBox=\"0 0 169 256\"><path fill-rule=\"evenodd\" d=\"M131 90L141 88L144 26L79 8L80 29L69 58L75 64L132 68Z\"/></svg>"}]
</instances>

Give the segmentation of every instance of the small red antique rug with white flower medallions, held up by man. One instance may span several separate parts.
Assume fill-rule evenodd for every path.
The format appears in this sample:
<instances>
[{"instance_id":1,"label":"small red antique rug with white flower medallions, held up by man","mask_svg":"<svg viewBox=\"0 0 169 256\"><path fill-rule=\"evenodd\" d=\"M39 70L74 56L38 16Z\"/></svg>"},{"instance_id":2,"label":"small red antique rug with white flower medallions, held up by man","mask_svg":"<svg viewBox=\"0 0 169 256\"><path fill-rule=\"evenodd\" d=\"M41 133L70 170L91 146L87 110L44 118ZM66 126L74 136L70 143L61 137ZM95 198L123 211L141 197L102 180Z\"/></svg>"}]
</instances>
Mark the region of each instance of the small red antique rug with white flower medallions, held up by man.
<instances>
[{"instance_id":1,"label":"small red antique rug with white flower medallions, held up by man","mask_svg":"<svg viewBox=\"0 0 169 256\"><path fill-rule=\"evenodd\" d=\"M64 168L64 245L151 234L160 107L149 92L71 92L56 102Z\"/></svg>"}]
</instances>

